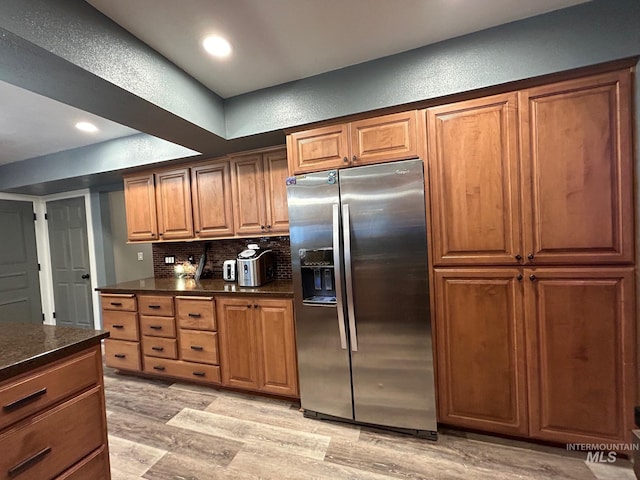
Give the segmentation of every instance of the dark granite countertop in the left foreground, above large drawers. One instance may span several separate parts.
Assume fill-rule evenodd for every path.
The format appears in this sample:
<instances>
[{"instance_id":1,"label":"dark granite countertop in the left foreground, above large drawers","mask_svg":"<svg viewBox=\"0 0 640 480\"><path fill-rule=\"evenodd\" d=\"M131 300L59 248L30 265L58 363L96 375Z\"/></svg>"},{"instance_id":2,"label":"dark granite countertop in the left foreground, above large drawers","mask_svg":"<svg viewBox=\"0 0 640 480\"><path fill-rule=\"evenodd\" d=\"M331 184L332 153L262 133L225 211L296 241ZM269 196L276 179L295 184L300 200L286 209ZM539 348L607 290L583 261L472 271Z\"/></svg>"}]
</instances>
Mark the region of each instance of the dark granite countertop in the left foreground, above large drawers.
<instances>
[{"instance_id":1,"label":"dark granite countertop in the left foreground, above large drawers","mask_svg":"<svg viewBox=\"0 0 640 480\"><path fill-rule=\"evenodd\" d=\"M96 345L109 332L0 323L0 382Z\"/></svg>"}]
</instances>

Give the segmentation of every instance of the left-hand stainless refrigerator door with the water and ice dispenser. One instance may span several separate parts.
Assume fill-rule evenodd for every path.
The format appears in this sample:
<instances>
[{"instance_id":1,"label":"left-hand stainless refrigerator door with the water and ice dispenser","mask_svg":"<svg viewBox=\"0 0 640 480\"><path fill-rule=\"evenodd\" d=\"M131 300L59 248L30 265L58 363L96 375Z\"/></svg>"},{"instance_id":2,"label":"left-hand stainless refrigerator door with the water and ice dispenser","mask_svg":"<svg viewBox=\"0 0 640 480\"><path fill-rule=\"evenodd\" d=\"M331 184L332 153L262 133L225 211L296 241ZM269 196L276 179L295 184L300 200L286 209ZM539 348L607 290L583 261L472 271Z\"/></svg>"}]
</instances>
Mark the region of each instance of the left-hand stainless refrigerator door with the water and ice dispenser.
<instances>
[{"instance_id":1,"label":"left-hand stainless refrigerator door with the water and ice dispenser","mask_svg":"<svg viewBox=\"0 0 640 480\"><path fill-rule=\"evenodd\" d=\"M293 183L293 184L292 184ZM302 408L353 419L350 358L347 346L341 274L340 198L335 170L299 175L288 181L291 263L296 315L296 344ZM331 251L329 249L332 249ZM311 273L311 286L335 290L333 302L304 300L300 251L329 252L334 257L334 278ZM309 255L307 255L308 257ZM324 258L324 257L323 257ZM314 262L310 262L314 263ZM333 285L335 283L335 285ZM308 286L308 284L307 284Z\"/></svg>"}]
</instances>

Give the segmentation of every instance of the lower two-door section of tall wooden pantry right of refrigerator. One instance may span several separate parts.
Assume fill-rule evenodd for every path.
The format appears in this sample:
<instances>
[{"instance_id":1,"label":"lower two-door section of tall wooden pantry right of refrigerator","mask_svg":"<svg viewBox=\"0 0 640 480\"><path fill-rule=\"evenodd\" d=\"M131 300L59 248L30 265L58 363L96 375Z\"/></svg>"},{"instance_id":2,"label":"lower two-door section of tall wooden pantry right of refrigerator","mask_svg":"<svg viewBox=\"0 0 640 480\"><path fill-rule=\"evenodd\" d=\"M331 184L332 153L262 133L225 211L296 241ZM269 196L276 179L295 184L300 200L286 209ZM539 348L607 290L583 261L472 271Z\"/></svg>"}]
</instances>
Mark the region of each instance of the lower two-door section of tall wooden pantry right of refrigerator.
<instances>
[{"instance_id":1,"label":"lower two-door section of tall wooden pantry right of refrigerator","mask_svg":"<svg viewBox=\"0 0 640 480\"><path fill-rule=\"evenodd\" d=\"M435 269L442 423L628 442L633 268Z\"/></svg>"}]
</instances>

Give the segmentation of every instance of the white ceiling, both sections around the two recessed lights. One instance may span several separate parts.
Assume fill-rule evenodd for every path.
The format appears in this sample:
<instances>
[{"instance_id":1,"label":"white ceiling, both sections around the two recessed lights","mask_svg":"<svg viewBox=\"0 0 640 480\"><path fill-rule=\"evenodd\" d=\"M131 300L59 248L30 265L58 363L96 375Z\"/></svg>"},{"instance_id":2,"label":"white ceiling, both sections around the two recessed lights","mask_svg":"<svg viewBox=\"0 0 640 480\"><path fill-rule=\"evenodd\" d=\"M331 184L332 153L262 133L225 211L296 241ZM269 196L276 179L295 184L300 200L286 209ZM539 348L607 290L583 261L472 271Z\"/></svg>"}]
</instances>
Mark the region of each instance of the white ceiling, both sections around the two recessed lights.
<instances>
[{"instance_id":1,"label":"white ceiling, both sections around the two recessed lights","mask_svg":"<svg viewBox=\"0 0 640 480\"><path fill-rule=\"evenodd\" d=\"M223 98L588 0L87 0ZM226 36L232 57L201 48ZM0 82L0 165L136 130ZM74 128L95 123L94 134Z\"/></svg>"}]
</instances>

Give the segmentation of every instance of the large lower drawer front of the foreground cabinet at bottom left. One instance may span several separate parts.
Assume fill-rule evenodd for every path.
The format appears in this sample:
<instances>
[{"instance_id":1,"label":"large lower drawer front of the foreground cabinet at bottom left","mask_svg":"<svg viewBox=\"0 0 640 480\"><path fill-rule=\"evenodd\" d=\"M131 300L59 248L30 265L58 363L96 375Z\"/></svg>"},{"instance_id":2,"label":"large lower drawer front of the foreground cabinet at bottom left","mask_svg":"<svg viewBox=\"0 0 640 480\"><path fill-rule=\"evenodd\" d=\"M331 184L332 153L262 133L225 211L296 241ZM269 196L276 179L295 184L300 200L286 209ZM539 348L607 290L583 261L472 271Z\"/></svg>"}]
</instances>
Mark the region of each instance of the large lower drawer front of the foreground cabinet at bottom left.
<instances>
[{"instance_id":1,"label":"large lower drawer front of the foreground cabinet at bottom left","mask_svg":"<svg viewBox=\"0 0 640 480\"><path fill-rule=\"evenodd\" d=\"M49 479L103 445L102 387L0 435L0 480Z\"/></svg>"}]
</instances>

